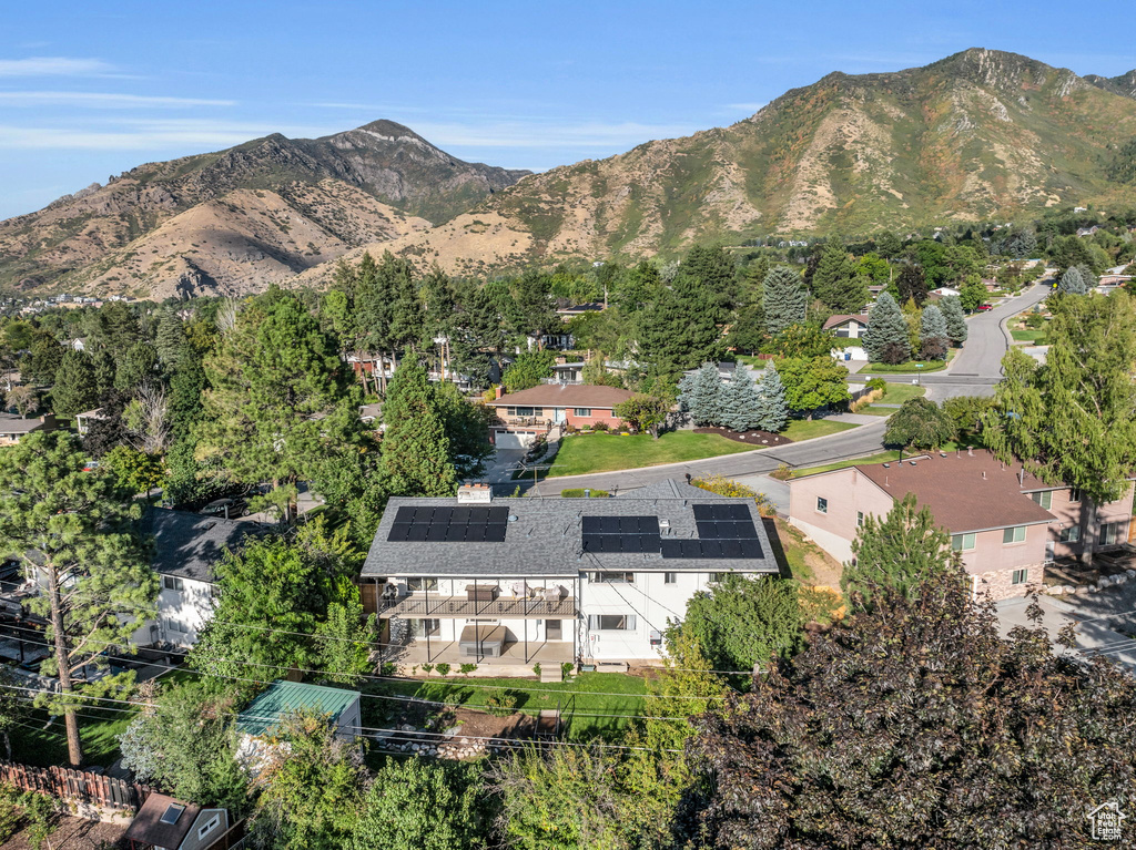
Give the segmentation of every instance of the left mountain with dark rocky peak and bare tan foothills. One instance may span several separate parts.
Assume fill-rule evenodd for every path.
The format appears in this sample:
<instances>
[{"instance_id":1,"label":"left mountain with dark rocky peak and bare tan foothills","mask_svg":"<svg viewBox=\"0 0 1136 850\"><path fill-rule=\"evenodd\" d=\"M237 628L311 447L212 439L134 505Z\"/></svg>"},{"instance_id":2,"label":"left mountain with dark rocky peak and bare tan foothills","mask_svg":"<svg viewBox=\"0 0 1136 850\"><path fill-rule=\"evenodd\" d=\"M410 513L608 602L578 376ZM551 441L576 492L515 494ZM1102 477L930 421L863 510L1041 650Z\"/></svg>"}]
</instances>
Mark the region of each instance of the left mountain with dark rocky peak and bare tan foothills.
<instances>
[{"instance_id":1,"label":"left mountain with dark rocky peak and bare tan foothills","mask_svg":"<svg viewBox=\"0 0 1136 850\"><path fill-rule=\"evenodd\" d=\"M0 222L0 286L240 293L468 210L527 171L462 162L393 121L134 168Z\"/></svg>"}]
</instances>

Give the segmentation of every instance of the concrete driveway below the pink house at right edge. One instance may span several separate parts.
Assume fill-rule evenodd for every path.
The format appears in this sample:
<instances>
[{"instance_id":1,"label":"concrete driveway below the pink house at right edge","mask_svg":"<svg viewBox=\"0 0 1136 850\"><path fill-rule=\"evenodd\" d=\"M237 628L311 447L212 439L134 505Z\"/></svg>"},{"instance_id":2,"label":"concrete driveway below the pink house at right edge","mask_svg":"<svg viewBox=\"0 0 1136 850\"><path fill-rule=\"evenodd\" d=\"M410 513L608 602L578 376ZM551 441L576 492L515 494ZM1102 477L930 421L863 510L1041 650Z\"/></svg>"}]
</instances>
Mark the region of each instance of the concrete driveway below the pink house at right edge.
<instances>
[{"instance_id":1,"label":"concrete driveway below the pink house at right edge","mask_svg":"<svg viewBox=\"0 0 1136 850\"><path fill-rule=\"evenodd\" d=\"M1016 625L1030 625L1026 617L1028 605L1027 599L1006 599L997 604L1002 634ZM1125 633L1136 634L1136 582L1061 599L1042 596L1038 605L1043 612L1042 625L1049 631L1051 641L1062 628L1072 623L1081 655L1100 654L1136 671L1136 640Z\"/></svg>"}]
</instances>

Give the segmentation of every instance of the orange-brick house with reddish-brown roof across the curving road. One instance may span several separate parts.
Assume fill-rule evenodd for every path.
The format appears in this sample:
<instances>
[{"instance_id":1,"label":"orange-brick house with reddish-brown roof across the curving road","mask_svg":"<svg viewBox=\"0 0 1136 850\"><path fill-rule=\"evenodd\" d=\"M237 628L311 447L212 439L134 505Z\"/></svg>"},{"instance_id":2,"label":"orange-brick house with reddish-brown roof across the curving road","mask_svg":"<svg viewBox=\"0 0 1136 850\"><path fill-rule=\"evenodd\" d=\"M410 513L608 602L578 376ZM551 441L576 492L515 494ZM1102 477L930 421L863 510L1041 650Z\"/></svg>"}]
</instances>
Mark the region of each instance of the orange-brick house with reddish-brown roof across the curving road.
<instances>
[{"instance_id":1,"label":"orange-brick house with reddish-brown roof across the curving road","mask_svg":"<svg viewBox=\"0 0 1136 850\"><path fill-rule=\"evenodd\" d=\"M496 413L490 441L498 448L525 448L553 427L587 428L603 422L620 428L623 421L612 410L632 395L619 387L592 384L542 384L500 395L487 403Z\"/></svg>"}]
</instances>

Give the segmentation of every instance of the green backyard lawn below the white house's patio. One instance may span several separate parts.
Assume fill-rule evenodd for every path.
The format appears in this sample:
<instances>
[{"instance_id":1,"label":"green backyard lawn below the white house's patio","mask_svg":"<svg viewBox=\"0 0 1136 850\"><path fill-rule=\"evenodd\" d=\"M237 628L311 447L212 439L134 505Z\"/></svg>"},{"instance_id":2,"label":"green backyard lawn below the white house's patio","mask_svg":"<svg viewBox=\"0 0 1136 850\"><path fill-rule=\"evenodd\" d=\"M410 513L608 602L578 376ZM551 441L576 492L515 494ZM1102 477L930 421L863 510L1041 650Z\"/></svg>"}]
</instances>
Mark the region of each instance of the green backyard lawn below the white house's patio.
<instances>
[{"instance_id":1,"label":"green backyard lawn below the white house's patio","mask_svg":"<svg viewBox=\"0 0 1136 850\"><path fill-rule=\"evenodd\" d=\"M528 679L479 679L434 676L425 681L365 681L364 693L379 696L418 697L438 702L446 698L469 708L485 705L485 698L507 689L517 696L517 709L538 714L543 708L557 708L565 715L573 713L568 737L588 739L625 731L643 708L646 687L640 676L626 673L580 673L570 682L537 682ZM630 696L624 696L630 695ZM364 726L382 726L399 702L381 699L362 700ZM624 715L620 717L588 717L585 715Z\"/></svg>"}]
</instances>

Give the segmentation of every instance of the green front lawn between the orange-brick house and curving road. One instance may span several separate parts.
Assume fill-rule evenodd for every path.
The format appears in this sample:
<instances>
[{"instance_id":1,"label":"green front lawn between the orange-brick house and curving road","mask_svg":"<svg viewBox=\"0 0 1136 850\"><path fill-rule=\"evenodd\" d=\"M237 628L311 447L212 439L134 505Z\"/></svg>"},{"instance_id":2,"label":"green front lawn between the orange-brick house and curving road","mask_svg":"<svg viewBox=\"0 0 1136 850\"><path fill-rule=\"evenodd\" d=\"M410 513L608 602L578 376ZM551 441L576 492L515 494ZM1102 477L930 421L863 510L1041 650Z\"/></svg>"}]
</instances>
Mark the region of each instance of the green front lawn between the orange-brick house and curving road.
<instances>
[{"instance_id":1,"label":"green front lawn between the orange-brick house and curving road","mask_svg":"<svg viewBox=\"0 0 1136 850\"><path fill-rule=\"evenodd\" d=\"M793 439L793 436L790 435L790 438ZM696 461L752 452L760 447L729 440L717 434L693 431L670 431L659 439L649 434L628 437L618 434L577 434L561 440L560 451L549 470L549 478Z\"/></svg>"}]
</instances>

